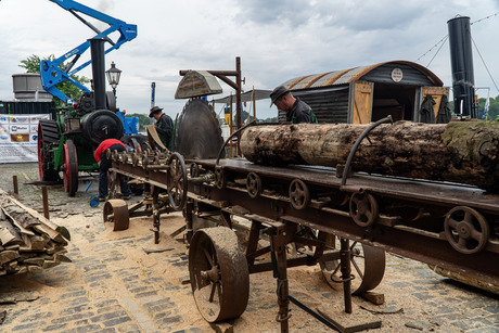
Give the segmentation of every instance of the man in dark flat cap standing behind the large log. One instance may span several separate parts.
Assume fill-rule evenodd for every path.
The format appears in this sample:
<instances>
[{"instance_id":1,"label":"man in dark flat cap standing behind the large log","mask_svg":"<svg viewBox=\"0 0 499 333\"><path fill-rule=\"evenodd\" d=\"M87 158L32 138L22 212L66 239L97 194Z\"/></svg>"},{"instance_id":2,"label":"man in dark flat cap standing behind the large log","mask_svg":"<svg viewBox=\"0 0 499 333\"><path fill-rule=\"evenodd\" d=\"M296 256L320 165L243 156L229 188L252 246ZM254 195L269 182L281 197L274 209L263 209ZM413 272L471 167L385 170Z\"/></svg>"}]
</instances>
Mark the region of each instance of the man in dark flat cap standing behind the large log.
<instances>
[{"instance_id":1,"label":"man in dark flat cap standing behind the large log","mask_svg":"<svg viewBox=\"0 0 499 333\"><path fill-rule=\"evenodd\" d=\"M273 89L270 93L270 106L276 104L278 110L286 112L286 121L293 124L317 123L316 115L311 107L299 98L293 97L291 91L284 86L279 86Z\"/></svg>"}]
</instances>

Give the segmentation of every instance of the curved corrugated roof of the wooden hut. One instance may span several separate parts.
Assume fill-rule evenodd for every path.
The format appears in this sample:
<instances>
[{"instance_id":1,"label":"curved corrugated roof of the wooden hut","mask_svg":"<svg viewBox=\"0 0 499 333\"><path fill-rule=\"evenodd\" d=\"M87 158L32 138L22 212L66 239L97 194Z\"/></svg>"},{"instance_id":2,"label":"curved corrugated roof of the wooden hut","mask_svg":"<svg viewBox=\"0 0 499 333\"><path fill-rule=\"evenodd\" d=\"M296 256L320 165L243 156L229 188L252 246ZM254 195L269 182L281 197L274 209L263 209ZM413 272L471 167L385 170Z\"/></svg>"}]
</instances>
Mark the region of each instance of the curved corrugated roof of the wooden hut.
<instances>
[{"instance_id":1,"label":"curved corrugated roof of the wooden hut","mask_svg":"<svg viewBox=\"0 0 499 333\"><path fill-rule=\"evenodd\" d=\"M369 72L386 64L405 64L411 66L419 72L423 73L430 81L433 82L436 87L444 86L444 82L428 68L410 62L410 61L389 61L384 63L379 63L369 66L361 66L361 67L354 67L343 71L334 71L328 72L322 74L314 74L314 75L306 75L300 77L295 77L291 80L285 81L282 84L286 86L287 89L298 90L298 89L308 89L308 88L320 88L320 87L329 87L329 86L338 86L338 85L347 85L351 81L356 81L360 79L362 76L368 74Z\"/></svg>"}]
</instances>

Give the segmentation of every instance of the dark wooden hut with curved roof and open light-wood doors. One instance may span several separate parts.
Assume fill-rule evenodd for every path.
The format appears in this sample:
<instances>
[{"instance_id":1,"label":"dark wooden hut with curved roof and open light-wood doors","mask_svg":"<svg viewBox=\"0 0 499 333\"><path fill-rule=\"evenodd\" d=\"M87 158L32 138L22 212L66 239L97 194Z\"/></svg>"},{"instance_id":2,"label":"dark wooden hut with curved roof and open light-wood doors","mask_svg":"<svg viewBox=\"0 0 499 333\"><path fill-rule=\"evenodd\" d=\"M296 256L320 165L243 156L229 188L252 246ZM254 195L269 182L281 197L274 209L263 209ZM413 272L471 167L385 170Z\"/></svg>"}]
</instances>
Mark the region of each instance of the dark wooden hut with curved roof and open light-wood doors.
<instances>
[{"instance_id":1,"label":"dark wooden hut with curved roof and open light-wood doors","mask_svg":"<svg viewBox=\"0 0 499 333\"><path fill-rule=\"evenodd\" d=\"M307 75L283 85L312 107L319 123L368 124L387 115L422 121L421 106L430 97L436 123L449 92L434 73L409 61ZM285 120L284 112L279 112L279 119Z\"/></svg>"}]
</instances>

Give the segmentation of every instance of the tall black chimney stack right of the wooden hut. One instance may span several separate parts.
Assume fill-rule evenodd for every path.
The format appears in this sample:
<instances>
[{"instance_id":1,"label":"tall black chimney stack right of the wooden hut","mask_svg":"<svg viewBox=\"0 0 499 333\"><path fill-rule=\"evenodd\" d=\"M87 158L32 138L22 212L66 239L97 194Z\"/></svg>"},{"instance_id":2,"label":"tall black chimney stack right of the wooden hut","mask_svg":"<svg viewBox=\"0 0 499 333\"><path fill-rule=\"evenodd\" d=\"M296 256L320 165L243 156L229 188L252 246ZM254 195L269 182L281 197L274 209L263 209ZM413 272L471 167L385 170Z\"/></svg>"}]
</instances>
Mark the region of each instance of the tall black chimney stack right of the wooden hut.
<instances>
[{"instance_id":1,"label":"tall black chimney stack right of the wooden hut","mask_svg":"<svg viewBox=\"0 0 499 333\"><path fill-rule=\"evenodd\" d=\"M449 28L455 113L476 118L478 112L475 104L470 17L459 16L449 20L447 25Z\"/></svg>"}]
</instances>

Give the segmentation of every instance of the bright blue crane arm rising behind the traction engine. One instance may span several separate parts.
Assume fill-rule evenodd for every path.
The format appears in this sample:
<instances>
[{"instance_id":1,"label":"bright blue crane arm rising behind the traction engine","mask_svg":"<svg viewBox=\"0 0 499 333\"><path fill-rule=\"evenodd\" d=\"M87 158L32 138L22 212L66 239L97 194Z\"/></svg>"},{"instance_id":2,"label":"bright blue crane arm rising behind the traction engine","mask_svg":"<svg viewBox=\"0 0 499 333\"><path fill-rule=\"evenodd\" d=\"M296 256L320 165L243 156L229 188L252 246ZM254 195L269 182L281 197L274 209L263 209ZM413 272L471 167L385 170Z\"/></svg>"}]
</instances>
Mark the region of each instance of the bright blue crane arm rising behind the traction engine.
<instances>
[{"instance_id":1,"label":"bright blue crane arm rising behind the traction engine","mask_svg":"<svg viewBox=\"0 0 499 333\"><path fill-rule=\"evenodd\" d=\"M55 2L61 8L69 11L73 15L75 15L79 21L81 21L85 25L91 28L97 35L93 38L103 38L105 39L111 47L108 47L104 52L107 54L108 52L118 49L123 43L132 40L137 37L137 25L135 24L127 24L124 21L114 18L110 15L95 11L89 7L86 7L81 3L78 3L73 0L49 0L51 2ZM93 17L101 22L104 22L110 25L110 27L103 31L100 31L97 27L94 27L91 23L87 22L84 17L81 17L78 13L82 13L87 16ZM108 35L113 33L119 33L119 37L116 41L113 41ZM61 90L59 90L55 85L63 82L65 80L72 82L73 85L77 86L79 89L89 92L90 90L85 87L84 85L79 84L75 79L72 78L73 75L81 71L82 68L87 67L91 64L91 60L87 61L86 63L81 64L75 69L72 69L74 65L78 62L79 57L82 53L85 53L90 48L90 42L87 40L81 44L77 46L69 52L66 52L62 56L49 61L43 60L40 62L40 77L41 84L43 89L47 90L52 95L56 97L64 103L73 102L66 94L64 94ZM64 68L61 68L60 65L65 61L72 59L69 63L66 64Z\"/></svg>"}]
</instances>

